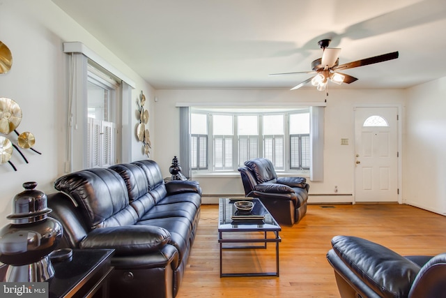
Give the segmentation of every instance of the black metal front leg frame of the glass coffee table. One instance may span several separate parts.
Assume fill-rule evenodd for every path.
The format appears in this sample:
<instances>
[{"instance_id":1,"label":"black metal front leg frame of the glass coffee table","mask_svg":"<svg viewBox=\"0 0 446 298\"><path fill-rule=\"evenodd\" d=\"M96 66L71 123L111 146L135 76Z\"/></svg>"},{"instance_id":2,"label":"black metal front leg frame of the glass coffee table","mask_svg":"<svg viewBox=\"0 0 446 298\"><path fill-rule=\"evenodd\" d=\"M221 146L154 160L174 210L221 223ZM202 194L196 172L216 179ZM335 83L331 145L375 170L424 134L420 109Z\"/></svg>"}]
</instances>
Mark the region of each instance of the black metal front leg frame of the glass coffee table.
<instances>
[{"instance_id":1,"label":"black metal front leg frame of the glass coffee table","mask_svg":"<svg viewBox=\"0 0 446 298\"><path fill-rule=\"evenodd\" d=\"M279 276L279 242L282 241L282 239L279 237L279 231L274 231L275 238L267 238L267 232L264 232L265 237L259 238L259 239L223 239L222 237L223 232L218 233L218 242L220 243L220 277L234 277L234 276ZM226 246L224 247L223 244L225 243L242 243L242 244L249 244L249 243L263 243L262 246ZM268 243L275 243L276 244L276 253L275 253L275 261L276 261L276 271L275 272L243 272L243 273L223 273L223 250L225 249L257 249L257 248L264 248L266 249L266 244Z\"/></svg>"}]
</instances>

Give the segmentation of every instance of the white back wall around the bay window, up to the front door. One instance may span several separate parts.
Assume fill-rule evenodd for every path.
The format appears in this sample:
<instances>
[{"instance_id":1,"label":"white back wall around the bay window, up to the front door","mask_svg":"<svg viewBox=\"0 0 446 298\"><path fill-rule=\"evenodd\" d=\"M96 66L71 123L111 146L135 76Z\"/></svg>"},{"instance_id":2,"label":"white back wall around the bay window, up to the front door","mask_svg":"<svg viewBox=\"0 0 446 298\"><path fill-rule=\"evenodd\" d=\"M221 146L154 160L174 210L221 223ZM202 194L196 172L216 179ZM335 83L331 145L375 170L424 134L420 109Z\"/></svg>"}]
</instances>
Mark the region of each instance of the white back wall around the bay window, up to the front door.
<instances>
[{"instance_id":1,"label":"white back wall around the bay window, up to the front door","mask_svg":"<svg viewBox=\"0 0 446 298\"><path fill-rule=\"evenodd\" d=\"M330 91L325 107L324 179L310 184L309 202L352 202L354 170L354 117L355 105L401 105L402 90L341 90ZM157 139L155 161L160 164L164 177L169 176L171 159L179 156L179 109L176 103L298 103L323 102L324 92L316 89L289 90L157 90L154 105L157 117L155 133L163 135ZM341 145L341 138L349 140ZM194 178L200 181L203 195L243 195L239 174L232 177ZM308 181L308 180L307 180ZM338 196L334 196L338 186ZM316 194L323 196L316 196ZM346 194L339 196L339 194ZM328 196L327 196L328 195ZM215 198L213 199L215 200ZM207 201L206 201L207 202Z\"/></svg>"}]
</instances>

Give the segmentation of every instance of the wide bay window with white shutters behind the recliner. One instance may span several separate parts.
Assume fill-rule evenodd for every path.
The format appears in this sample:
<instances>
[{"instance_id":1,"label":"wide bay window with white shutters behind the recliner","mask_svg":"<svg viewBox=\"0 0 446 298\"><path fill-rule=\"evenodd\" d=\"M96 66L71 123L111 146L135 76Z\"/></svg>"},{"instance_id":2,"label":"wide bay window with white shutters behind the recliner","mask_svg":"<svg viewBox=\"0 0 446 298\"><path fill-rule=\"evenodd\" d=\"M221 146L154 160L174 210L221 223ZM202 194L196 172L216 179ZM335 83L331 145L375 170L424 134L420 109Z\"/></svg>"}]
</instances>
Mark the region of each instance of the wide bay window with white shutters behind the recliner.
<instances>
[{"instance_id":1,"label":"wide bay window with white shutters behind the recliner","mask_svg":"<svg viewBox=\"0 0 446 298\"><path fill-rule=\"evenodd\" d=\"M235 172L258 157L270 159L277 171L309 170L308 107L192 108L190 119L191 170Z\"/></svg>"}]
</instances>

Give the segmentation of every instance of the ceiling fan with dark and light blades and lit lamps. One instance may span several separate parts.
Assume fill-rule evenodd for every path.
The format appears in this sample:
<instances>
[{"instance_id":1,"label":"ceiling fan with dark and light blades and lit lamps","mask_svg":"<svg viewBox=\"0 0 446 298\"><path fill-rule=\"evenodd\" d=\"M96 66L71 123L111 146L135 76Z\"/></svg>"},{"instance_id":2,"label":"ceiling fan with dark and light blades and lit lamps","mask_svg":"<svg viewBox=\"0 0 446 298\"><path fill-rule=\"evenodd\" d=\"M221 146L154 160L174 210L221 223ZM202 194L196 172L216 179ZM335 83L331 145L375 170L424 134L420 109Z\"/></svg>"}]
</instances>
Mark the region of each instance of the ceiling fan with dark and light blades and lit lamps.
<instances>
[{"instance_id":1,"label":"ceiling fan with dark and light blades and lit lamps","mask_svg":"<svg viewBox=\"0 0 446 298\"><path fill-rule=\"evenodd\" d=\"M351 75L347 75L346 73L339 73L337 70L345 70L348 68L366 66L369 64L376 64L379 62L397 59L399 55L398 52L391 52L339 65L339 52L341 52L341 49L328 48L328 45L330 45L330 41L330 39L323 39L318 42L318 45L321 47L321 49L323 49L323 54L322 58L316 59L312 62L313 70L298 71L295 73L271 73L270 75L295 75L298 73L314 73L316 75L301 82L300 84L291 88L291 90L298 89L308 82L312 82L312 85L316 86L319 91L323 91L327 88L328 80L336 84L351 84L357 80L356 77L352 77Z\"/></svg>"}]
</instances>

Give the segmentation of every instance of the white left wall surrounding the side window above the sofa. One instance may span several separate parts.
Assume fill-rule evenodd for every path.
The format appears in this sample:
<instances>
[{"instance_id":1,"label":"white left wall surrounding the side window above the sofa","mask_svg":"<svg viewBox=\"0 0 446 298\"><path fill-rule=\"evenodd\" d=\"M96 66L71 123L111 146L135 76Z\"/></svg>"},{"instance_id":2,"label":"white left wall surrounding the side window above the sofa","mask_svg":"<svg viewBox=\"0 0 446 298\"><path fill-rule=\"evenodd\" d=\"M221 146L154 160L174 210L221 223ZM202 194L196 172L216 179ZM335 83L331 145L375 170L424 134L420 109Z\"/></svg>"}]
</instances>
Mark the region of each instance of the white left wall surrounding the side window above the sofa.
<instances>
[{"instance_id":1,"label":"white left wall surrounding the side window above the sofa","mask_svg":"<svg viewBox=\"0 0 446 298\"><path fill-rule=\"evenodd\" d=\"M10 72L0 75L0 97L15 100L22 108L23 119L17 131L30 131L36 136L33 151L22 150L29 164L14 151L11 160L17 172L8 163L0 165L0 227L10 223L13 197L20 193L26 181L36 181L38 189L54 192L54 179L64 173L66 161L66 107L68 98L68 61L62 43L80 41L136 83L132 91L131 110L136 111L136 100L141 90L152 113L153 88L128 68L123 61L100 44L93 36L63 13L49 0L3 0L0 3L0 40L13 54ZM131 129L136 131L137 118L132 113ZM151 129L155 119L149 123ZM17 140L14 133L8 135ZM144 158L141 143L136 136L128 144L132 161Z\"/></svg>"}]
</instances>

